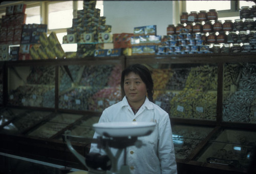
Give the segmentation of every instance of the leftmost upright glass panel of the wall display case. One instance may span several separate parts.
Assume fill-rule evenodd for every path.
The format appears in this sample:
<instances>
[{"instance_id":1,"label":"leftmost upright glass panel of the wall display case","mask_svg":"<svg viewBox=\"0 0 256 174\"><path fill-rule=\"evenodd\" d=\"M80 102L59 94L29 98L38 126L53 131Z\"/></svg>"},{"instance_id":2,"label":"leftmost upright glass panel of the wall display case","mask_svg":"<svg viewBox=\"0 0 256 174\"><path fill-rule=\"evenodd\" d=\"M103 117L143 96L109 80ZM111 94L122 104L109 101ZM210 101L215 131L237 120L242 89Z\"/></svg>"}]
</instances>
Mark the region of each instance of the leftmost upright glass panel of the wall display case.
<instances>
[{"instance_id":1,"label":"leftmost upright glass panel of the wall display case","mask_svg":"<svg viewBox=\"0 0 256 174\"><path fill-rule=\"evenodd\" d=\"M55 66L8 68L8 105L55 106Z\"/></svg>"}]
</instances>

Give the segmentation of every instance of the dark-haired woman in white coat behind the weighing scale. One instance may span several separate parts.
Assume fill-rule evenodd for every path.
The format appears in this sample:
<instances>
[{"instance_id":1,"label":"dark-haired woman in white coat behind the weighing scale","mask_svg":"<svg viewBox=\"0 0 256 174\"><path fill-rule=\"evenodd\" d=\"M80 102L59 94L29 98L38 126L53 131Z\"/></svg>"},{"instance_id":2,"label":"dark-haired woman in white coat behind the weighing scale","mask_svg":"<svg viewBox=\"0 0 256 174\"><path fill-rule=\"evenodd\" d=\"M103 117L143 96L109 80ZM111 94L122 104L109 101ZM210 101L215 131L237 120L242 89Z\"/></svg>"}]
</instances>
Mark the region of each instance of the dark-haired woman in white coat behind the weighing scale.
<instances>
[{"instance_id":1,"label":"dark-haired woman in white coat behind the weighing scale","mask_svg":"<svg viewBox=\"0 0 256 174\"><path fill-rule=\"evenodd\" d=\"M155 122L156 128L151 135L138 137L145 146L126 148L126 164L133 174L175 174L177 166L169 116L153 103L153 87L151 73L145 66L134 64L123 70L121 90L125 96L106 108L99 122ZM94 138L97 136L95 133ZM96 144L92 144L90 151L99 151ZM122 162L123 154L119 168Z\"/></svg>"}]
</instances>

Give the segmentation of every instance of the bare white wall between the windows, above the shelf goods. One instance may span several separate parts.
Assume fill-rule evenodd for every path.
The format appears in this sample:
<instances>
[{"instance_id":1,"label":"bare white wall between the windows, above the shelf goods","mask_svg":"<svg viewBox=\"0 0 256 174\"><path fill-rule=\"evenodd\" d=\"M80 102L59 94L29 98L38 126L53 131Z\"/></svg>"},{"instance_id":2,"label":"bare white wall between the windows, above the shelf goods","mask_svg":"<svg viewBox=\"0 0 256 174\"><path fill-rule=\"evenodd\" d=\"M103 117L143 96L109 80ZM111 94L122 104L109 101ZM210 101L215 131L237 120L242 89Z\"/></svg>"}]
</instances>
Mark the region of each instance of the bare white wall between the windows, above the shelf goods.
<instances>
[{"instance_id":1,"label":"bare white wall between the windows, above the shelf goods","mask_svg":"<svg viewBox=\"0 0 256 174\"><path fill-rule=\"evenodd\" d=\"M112 33L133 33L134 27L156 25L157 35L166 35L173 24L172 1L104 1L106 25Z\"/></svg>"}]
</instances>

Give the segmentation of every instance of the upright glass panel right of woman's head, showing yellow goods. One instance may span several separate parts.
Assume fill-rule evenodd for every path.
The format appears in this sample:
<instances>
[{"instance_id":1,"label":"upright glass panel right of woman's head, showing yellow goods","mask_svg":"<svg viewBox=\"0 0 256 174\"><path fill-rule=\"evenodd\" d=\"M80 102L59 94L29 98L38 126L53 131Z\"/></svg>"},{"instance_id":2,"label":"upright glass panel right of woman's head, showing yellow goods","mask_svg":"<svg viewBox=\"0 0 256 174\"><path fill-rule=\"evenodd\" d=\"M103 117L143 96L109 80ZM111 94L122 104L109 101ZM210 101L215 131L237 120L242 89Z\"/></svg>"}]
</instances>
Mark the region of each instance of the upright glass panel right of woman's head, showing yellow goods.
<instances>
[{"instance_id":1,"label":"upright glass panel right of woman's head, showing yellow goods","mask_svg":"<svg viewBox=\"0 0 256 174\"><path fill-rule=\"evenodd\" d=\"M154 101L170 118L216 120L217 64L147 63Z\"/></svg>"}]
</instances>

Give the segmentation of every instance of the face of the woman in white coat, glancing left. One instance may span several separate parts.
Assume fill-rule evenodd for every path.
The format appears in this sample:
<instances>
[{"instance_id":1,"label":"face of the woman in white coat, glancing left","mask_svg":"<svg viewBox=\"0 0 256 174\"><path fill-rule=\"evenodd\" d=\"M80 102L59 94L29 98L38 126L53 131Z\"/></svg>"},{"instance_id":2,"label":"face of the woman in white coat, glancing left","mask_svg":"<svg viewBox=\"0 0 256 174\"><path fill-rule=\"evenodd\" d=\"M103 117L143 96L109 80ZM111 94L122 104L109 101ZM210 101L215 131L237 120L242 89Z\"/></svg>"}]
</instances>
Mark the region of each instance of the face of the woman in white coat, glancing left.
<instances>
[{"instance_id":1,"label":"face of the woman in white coat, glancing left","mask_svg":"<svg viewBox=\"0 0 256 174\"><path fill-rule=\"evenodd\" d=\"M134 107L144 103L146 84L141 80L138 74L131 72L127 76L124 76L123 89L129 103L135 104Z\"/></svg>"}]
</instances>

